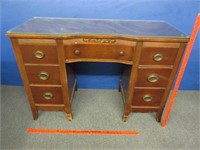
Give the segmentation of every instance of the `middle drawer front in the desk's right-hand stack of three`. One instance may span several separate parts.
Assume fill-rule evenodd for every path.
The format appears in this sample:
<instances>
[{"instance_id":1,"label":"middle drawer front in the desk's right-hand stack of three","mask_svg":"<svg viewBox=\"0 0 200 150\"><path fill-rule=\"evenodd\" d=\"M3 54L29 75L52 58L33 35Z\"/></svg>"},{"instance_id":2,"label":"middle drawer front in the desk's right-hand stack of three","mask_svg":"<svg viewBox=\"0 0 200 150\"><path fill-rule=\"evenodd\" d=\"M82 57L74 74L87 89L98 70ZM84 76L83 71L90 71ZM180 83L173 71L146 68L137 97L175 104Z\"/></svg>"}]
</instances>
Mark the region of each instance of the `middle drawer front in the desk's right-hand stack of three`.
<instances>
[{"instance_id":1,"label":"middle drawer front in the desk's right-hand stack of three","mask_svg":"<svg viewBox=\"0 0 200 150\"><path fill-rule=\"evenodd\" d=\"M138 69L136 87L166 87L171 69Z\"/></svg>"}]
</instances>

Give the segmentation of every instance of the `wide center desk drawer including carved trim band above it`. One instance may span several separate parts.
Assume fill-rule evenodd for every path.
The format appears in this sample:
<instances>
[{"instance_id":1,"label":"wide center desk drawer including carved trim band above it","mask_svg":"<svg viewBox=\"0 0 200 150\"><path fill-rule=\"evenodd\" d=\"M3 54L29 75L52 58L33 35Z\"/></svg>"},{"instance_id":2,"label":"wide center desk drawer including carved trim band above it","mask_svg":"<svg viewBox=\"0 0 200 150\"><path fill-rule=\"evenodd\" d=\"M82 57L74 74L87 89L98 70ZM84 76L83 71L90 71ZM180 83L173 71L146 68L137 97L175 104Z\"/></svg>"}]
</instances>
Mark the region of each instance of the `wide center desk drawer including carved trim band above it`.
<instances>
[{"instance_id":1,"label":"wide center desk drawer including carved trim band above it","mask_svg":"<svg viewBox=\"0 0 200 150\"><path fill-rule=\"evenodd\" d=\"M64 40L67 61L111 61L132 63L135 42L126 40Z\"/></svg>"}]
</instances>

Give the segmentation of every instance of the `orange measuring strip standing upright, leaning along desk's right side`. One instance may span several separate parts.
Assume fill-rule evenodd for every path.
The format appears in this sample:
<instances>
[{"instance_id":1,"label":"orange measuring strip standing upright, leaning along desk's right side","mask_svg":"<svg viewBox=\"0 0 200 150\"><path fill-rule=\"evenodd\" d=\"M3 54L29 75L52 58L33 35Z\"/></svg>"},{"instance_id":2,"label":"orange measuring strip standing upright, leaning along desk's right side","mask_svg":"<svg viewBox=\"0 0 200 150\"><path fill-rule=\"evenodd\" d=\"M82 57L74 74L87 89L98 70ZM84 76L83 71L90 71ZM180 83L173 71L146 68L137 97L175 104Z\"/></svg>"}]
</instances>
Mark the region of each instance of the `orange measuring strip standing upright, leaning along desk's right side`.
<instances>
[{"instance_id":1,"label":"orange measuring strip standing upright, leaning along desk's right side","mask_svg":"<svg viewBox=\"0 0 200 150\"><path fill-rule=\"evenodd\" d=\"M192 30L192 34L191 34L190 40L188 42L188 45L187 45L187 48L186 48L186 51L185 51L185 55L183 57L182 65L180 67L180 70L179 70L179 73L178 73L178 76L177 76L177 79L176 79L176 82L175 82L174 90L172 91L172 95L170 97L169 104L167 106L164 119L162 121L162 127L165 127L166 124L167 124L167 121L168 121L173 103L175 101L175 97L176 97L176 94L178 92L178 88L179 88L179 85L181 83L181 79L183 77L183 74L184 74L184 71L185 71L190 53L192 51L192 47L194 45L194 41L196 39L199 28L200 28L200 14L198 14L197 19L195 21L195 24L194 24L194 27L193 27L193 30Z\"/></svg>"}]
</instances>

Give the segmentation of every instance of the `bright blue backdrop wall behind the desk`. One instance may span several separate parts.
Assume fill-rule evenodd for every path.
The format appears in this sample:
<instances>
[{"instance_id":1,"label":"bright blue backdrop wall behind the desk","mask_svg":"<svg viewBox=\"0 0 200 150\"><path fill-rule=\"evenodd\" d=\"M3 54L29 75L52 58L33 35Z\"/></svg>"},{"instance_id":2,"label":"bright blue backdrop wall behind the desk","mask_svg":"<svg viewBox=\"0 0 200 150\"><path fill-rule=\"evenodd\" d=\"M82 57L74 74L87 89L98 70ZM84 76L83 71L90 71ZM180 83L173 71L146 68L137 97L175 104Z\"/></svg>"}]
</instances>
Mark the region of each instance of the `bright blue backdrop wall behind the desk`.
<instances>
[{"instance_id":1,"label":"bright blue backdrop wall behind the desk","mask_svg":"<svg viewBox=\"0 0 200 150\"><path fill-rule=\"evenodd\" d=\"M199 0L1 0L1 84L22 85L11 43L5 34L34 16L165 20L190 35L200 10L199 3ZM199 90L199 41L196 40L191 53L182 90ZM117 88L120 64L86 64L76 65L79 88Z\"/></svg>"}]
</instances>

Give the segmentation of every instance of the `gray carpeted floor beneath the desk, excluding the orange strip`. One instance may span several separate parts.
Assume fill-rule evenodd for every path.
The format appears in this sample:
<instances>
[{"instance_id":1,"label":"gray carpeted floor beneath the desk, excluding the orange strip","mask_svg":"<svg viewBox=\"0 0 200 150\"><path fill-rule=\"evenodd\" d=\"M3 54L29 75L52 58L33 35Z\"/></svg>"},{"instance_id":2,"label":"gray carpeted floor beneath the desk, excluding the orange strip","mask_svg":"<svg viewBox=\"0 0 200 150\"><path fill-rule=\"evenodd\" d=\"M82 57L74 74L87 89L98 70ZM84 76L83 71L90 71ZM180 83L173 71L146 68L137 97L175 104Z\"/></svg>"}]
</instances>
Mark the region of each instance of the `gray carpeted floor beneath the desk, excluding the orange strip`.
<instances>
[{"instance_id":1,"label":"gray carpeted floor beneath the desk, excluding the orange strip","mask_svg":"<svg viewBox=\"0 0 200 150\"><path fill-rule=\"evenodd\" d=\"M179 91L166 128L154 113L132 113L122 122L117 90L78 90L72 122L62 111L40 111L34 121L23 87L2 86L1 92L1 149L200 149L199 91ZM140 135L28 134L27 128L133 130Z\"/></svg>"}]
</instances>

